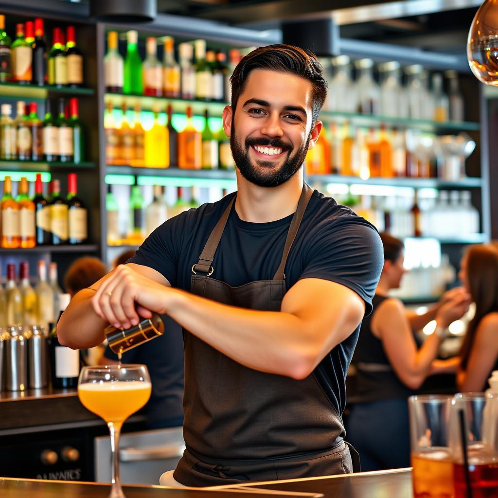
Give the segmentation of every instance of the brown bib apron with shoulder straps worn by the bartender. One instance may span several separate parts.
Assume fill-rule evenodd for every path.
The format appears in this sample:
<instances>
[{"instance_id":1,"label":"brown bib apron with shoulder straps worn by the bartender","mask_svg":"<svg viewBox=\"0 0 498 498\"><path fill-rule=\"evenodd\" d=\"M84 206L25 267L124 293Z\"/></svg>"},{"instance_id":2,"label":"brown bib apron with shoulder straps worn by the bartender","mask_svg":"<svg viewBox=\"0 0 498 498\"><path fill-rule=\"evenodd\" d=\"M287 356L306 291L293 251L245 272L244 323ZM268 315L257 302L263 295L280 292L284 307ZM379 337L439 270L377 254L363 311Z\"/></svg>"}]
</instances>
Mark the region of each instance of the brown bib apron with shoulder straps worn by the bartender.
<instances>
[{"instance_id":1,"label":"brown bib apron with shoulder straps worn by the bartender","mask_svg":"<svg viewBox=\"0 0 498 498\"><path fill-rule=\"evenodd\" d=\"M234 197L192 267L191 292L231 306L280 311L285 263L312 193L304 184L273 280L239 287L210 277ZM342 418L314 374L294 380L259 372L186 330L184 341L187 449L174 473L178 482L218 486L353 471Z\"/></svg>"}]
</instances>

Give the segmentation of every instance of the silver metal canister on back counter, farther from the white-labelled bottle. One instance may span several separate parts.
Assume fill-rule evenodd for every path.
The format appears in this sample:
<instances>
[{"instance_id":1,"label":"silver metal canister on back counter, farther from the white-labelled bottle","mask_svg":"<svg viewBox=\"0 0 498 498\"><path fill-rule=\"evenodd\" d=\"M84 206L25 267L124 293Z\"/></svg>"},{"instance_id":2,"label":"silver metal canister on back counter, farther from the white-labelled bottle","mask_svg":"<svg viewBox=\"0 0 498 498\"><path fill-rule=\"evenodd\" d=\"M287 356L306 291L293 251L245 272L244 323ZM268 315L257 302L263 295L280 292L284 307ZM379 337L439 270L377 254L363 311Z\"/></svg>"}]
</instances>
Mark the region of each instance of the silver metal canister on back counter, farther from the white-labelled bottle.
<instances>
[{"instance_id":1,"label":"silver metal canister on back counter, farther from the white-labelled bottle","mask_svg":"<svg viewBox=\"0 0 498 498\"><path fill-rule=\"evenodd\" d=\"M5 389L23 391L27 388L27 349L22 327L10 326L4 337Z\"/></svg>"}]
</instances>

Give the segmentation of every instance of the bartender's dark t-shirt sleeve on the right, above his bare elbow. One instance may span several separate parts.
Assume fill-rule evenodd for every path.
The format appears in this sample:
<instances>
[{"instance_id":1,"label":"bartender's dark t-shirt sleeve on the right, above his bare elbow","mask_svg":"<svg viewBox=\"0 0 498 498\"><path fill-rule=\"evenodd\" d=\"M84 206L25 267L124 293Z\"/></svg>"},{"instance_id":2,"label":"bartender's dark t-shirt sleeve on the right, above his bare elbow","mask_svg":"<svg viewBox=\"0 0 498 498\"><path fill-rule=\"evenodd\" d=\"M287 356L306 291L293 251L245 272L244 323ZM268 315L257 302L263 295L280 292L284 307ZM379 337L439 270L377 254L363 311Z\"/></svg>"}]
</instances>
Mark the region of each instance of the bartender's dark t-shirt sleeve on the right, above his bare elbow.
<instances>
[{"instance_id":1,"label":"bartender's dark t-shirt sleeve on the right, above his bare elbow","mask_svg":"<svg viewBox=\"0 0 498 498\"><path fill-rule=\"evenodd\" d=\"M310 237L300 279L322 278L355 291L365 301L365 316L384 264L382 241L373 225L361 217L344 216L324 222Z\"/></svg>"}]
</instances>

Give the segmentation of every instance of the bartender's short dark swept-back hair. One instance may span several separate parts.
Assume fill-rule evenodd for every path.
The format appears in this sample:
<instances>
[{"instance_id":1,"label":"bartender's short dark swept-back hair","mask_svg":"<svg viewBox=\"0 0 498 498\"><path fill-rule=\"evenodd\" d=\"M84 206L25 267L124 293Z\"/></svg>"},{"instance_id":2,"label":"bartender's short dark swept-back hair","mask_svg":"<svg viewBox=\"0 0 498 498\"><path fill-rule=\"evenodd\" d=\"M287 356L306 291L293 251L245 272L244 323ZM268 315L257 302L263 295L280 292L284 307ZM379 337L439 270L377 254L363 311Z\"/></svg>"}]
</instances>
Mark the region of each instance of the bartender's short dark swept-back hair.
<instances>
[{"instance_id":1,"label":"bartender's short dark swept-back hair","mask_svg":"<svg viewBox=\"0 0 498 498\"><path fill-rule=\"evenodd\" d=\"M232 108L235 112L237 101L253 69L268 69L280 73L291 73L309 80L313 86L312 92L312 119L318 119L320 110L327 97L327 80L323 77L322 66L315 54L307 49L293 45L267 45L249 52L237 64L230 78L232 86Z\"/></svg>"}]
</instances>

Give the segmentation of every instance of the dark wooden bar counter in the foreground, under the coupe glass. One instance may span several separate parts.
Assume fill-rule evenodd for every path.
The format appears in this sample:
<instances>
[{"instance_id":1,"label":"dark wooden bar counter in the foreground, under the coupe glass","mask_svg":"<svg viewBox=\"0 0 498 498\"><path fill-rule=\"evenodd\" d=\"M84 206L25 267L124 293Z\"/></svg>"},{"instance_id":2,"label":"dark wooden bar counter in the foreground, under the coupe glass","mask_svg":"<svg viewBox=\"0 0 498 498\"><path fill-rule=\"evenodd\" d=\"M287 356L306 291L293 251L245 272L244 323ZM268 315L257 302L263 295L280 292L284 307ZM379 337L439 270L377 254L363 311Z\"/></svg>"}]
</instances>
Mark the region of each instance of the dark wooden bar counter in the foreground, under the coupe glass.
<instances>
[{"instance_id":1,"label":"dark wooden bar counter in the foreground, under the coupe glass","mask_svg":"<svg viewBox=\"0 0 498 498\"><path fill-rule=\"evenodd\" d=\"M250 485L221 486L204 490L172 489L161 486L123 487L126 498L255 498L278 497L324 498L412 498L411 470L369 472L348 476L272 481ZM9 498L107 498L108 484L36 481L0 478L0 496Z\"/></svg>"}]
</instances>

